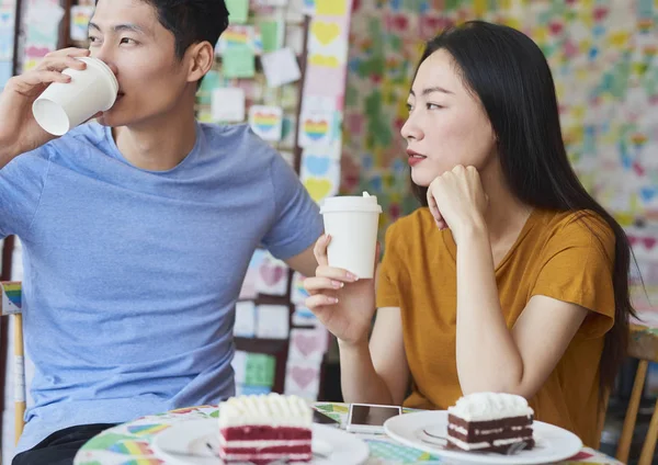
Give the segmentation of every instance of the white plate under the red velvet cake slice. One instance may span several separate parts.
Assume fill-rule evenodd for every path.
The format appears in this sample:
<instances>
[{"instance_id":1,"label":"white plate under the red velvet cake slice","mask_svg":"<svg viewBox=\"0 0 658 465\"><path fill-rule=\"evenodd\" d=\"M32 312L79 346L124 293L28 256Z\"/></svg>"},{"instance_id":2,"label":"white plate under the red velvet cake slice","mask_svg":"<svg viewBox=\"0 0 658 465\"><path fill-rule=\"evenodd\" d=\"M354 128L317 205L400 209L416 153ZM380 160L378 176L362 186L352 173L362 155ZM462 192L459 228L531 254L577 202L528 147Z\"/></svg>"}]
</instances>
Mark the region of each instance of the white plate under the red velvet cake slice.
<instances>
[{"instance_id":1,"label":"white plate under the red velvet cake slice","mask_svg":"<svg viewBox=\"0 0 658 465\"><path fill-rule=\"evenodd\" d=\"M219 423L216 419L189 420L174 423L158 434L151 444L155 453L167 464L175 465L220 465L224 462L213 455L206 443L219 441ZM314 465L359 465L367 460L367 444L333 427L313 424L313 450L326 455L317 456Z\"/></svg>"}]
</instances>

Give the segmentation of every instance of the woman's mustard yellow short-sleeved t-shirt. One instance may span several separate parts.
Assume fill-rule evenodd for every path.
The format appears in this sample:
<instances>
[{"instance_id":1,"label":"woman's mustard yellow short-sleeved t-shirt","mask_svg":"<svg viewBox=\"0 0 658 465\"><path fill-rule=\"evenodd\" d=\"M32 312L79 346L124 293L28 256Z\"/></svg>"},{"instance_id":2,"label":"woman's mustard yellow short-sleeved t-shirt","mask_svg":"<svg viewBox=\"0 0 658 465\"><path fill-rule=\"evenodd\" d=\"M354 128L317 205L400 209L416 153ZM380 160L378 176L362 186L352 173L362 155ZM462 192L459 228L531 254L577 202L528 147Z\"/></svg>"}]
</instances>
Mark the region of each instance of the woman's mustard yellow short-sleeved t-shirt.
<instances>
[{"instance_id":1,"label":"woman's mustard yellow short-sleeved t-shirt","mask_svg":"<svg viewBox=\"0 0 658 465\"><path fill-rule=\"evenodd\" d=\"M593 213L535 209L496 269L500 306L512 328L533 295L591 311L561 360L530 400L540 421L599 445L599 361L614 322L615 238ZM455 355L456 245L428 208L386 232L377 307L400 307L411 395L405 406L445 409L462 396Z\"/></svg>"}]
</instances>

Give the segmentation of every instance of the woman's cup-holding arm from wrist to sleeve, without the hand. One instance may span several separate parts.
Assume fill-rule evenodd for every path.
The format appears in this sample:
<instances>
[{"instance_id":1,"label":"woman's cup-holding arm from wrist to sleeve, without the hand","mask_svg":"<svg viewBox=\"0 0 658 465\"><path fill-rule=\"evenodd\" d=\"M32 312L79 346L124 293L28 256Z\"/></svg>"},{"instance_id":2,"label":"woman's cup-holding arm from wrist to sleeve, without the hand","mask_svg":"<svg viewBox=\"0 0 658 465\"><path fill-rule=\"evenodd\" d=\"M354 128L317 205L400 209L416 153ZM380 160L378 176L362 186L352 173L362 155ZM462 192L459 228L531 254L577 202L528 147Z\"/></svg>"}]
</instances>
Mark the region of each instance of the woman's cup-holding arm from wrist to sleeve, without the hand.
<instances>
[{"instance_id":1,"label":"woman's cup-holding arm from wrist to sleeve, without the hand","mask_svg":"<svg viewBox=\"0 0 658 465\"><path fill-rule=\"evenodd\" d=\"M347 402L401 405L409 384L398 307L377 310L370 347L364 341L342 344L340 371Z\"/></svg>"}]
</instances>

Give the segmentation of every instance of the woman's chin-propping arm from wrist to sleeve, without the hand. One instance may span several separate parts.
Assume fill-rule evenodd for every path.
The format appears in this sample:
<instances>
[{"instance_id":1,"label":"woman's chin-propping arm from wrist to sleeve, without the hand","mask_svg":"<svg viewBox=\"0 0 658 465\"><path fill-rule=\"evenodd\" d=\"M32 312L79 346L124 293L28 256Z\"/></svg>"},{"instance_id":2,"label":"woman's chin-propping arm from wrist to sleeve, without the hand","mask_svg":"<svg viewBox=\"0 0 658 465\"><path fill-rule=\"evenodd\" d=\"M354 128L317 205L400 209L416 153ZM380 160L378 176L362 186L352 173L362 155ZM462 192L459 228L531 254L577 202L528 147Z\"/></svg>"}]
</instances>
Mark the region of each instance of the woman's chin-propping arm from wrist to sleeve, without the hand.
<instances>
[{"instance_id":1,"label":"woman's chin-propping arm from wrist to sleeve, without the hand","mask_svg":"<svg viewBox=\"0 0 658 465\"><path fill-rule=\"evenodd\" d=\"M486 227L463 231L457 249L457 373L464 394L492 390L526 398L555 368L588 310L535 295L510 331L504 321Z\"/></svg>"}]
</instances>

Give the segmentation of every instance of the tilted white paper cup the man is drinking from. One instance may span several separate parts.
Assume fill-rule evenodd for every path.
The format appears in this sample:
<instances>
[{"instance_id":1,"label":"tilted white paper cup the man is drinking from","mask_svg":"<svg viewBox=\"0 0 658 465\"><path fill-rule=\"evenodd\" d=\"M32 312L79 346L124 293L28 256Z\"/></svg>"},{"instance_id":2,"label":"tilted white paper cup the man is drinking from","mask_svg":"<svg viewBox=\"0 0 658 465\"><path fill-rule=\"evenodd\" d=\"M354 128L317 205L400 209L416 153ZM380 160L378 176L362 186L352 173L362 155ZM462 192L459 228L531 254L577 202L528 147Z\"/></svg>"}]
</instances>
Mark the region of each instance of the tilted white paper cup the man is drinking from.
<instances>
[{"instance_id":1,"label":"tilted white paper cup the man is drinking from","mask_svg":"<svg viewBox=\"0 0 658 465\"><path fill-rule=\"evenodd\" d=\"M32 114L44 131L63 136L98 112L114 105L118 81L107 65L98 58L78 58L87 69L61 71L70 82L54 82L32 104Z\"/></svg>"}]
</instances>

